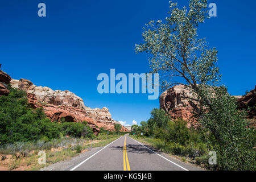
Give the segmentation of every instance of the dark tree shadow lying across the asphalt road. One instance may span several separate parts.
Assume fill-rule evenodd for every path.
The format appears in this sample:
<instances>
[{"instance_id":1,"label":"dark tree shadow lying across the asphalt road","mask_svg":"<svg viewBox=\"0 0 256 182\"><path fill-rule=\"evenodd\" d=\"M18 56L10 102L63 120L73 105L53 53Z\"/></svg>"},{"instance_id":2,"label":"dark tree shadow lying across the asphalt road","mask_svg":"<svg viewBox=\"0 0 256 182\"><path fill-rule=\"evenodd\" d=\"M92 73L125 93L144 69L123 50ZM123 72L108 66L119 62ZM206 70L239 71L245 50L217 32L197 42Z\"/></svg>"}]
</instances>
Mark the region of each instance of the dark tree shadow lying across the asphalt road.
<instances>
[{"instance_id":1,"label":"dark tree shadow lying across the asphalt road","mask_svg":"<svg viewBox=\"0 0 256 182\"><path fill-rule=\"evenodd\" d=\"M146 146L152 150L150 146ZM133 152L137 154L154 154L154 152L148 150L146 147L143 147L141 144L127 144L127 152ZM110 147L112 150L123 150L123 146L113 146Z\"/></svg>"}]
</instances>

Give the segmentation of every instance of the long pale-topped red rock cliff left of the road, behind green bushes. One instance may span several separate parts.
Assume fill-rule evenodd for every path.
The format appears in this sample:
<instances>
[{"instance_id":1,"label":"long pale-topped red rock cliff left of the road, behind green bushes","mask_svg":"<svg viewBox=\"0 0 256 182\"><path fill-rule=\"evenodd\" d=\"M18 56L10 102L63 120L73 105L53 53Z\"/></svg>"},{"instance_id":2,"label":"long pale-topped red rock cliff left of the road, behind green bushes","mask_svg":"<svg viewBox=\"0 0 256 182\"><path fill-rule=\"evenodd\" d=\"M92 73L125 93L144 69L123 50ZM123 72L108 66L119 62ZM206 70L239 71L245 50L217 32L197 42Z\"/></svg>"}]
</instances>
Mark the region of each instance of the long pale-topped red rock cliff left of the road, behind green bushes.
<instances>
[{"instance_id":1,"label":"long pale-topped red rock cliff left of the road, behind green bushes","mask_svg":"<svg viewBox=\"0 0 256 182\"><path fill-rule=\"evenodd\" d=\"M100 127L113 131L115 123L109 109L91 109L84 105L82 98L68 90L52 90L48 87L36 86L26 79L11 80L13 88L22 89L27 93L28 102L34 108L43 107L51 121L60 121L65 118L68 122L86 121L93 128L94 133L99 132ZM122 126L121 131L127 131Z\"/></svg>"}]
</instances>

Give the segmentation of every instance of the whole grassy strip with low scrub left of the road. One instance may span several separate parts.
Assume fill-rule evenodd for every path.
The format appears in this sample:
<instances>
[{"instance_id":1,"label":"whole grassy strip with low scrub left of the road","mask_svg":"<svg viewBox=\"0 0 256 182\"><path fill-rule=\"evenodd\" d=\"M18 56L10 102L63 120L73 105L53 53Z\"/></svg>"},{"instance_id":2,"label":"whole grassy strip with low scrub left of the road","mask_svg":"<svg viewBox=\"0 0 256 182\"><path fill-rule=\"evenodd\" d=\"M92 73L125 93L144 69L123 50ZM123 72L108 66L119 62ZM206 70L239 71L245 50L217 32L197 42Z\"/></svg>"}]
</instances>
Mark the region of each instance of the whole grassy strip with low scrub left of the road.
<instances>
[{"instance_id":1,"label":"whole grassy strip with low scrub left of the road","mask_svg":"<svg viewBox=\"0 0 256 182\"><path fill-rule=\"evenodd\" d=\"M118 135L98 135L93 140L93 148L105 146L121 136ZM37 171L50 164L70 159L79 155L85 150L90 150L91 141L89 139L62 138L51 142L26 142L9 144L0 148L0 166L9 170ZM46 152L46 164L39 164L39 151ZM19 154L20 157L16 158Z\"/></svg>"}]
</instances>

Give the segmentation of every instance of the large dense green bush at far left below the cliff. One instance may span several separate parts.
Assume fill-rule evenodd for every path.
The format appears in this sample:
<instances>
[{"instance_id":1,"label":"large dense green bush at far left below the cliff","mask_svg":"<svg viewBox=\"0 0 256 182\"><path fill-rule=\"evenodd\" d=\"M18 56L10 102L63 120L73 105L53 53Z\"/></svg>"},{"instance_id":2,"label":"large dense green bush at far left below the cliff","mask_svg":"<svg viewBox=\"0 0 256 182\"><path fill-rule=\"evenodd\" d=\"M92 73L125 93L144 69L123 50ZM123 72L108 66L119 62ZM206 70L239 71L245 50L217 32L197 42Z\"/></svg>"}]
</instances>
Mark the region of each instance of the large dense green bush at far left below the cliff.
<instances>
[{"instance_id":1,"label":"large dense green bush at far left below the cliff","mask_svg":"<svg viewBox=\"0 0 256 182\"><path fill-rule=\"evenodd\" d=\"M42 109L27 106L23 91L10 88L9 96L0 97L0 144L59 137L53 125Z\"/></svg>"}]
</instances>

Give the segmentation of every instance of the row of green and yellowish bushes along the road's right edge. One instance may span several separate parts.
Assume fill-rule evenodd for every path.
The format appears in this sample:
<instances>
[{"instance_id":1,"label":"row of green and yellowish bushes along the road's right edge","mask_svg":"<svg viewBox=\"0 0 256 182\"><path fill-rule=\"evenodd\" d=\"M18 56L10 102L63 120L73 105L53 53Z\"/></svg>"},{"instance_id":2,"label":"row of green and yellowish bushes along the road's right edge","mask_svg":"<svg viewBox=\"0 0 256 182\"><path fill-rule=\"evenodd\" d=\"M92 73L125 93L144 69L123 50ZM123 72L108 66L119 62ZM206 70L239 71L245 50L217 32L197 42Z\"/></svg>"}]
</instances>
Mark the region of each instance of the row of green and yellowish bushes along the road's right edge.
<instances>
[{"instance_id":1,"label":"row of green and yellowish bushes along the road's right edge","mask_svg":"<svg viewBox=\"0 0 256 182\"><path fill-rule=\"evenodd\" d=\"M183 160L191 162L210 170L255 170L255 129L240 126L249 135L244 138L246 145L240 146L230 154L229 148L214 137L212 131L204 127L188 129L187 122L183 119L171 121L164 110L153 109L151 118L147 122L141 122L141 126L133 125L130 135L137 140L149 144L160 151L172 154ZM141 133L143 135L141 135ZM230 142L229 142L230 144ZM231 144L230 144L231 145ZM210 151L216 152L216 163L212 159ZM209 155L211 154L211 155ZM225 158L229 155L232 159ZM239 155L240 159L235 159ZM240 168L232 165L240 163ZM244 163L241 163L241 162Z\"/></svg>"}]
</instances>

